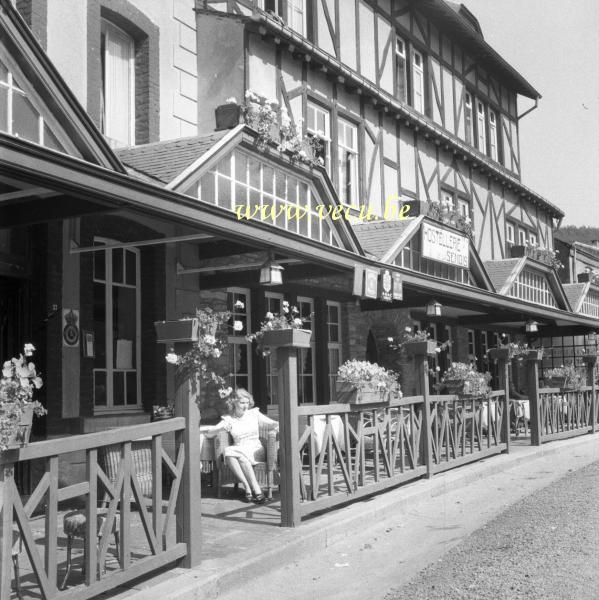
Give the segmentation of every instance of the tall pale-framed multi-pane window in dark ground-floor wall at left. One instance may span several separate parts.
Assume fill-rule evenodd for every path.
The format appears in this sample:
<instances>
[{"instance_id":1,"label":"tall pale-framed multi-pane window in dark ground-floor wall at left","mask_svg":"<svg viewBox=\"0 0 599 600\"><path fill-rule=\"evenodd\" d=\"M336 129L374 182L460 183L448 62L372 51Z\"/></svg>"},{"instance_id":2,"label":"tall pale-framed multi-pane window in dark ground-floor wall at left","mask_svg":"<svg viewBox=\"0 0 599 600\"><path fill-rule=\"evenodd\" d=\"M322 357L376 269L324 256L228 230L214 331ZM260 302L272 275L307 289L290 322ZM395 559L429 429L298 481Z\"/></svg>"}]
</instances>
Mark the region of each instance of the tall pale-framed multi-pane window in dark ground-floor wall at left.
<instances>
[{"instance_id":1,"label":"tall pale-framed multi-pane window in dark ground-floor wall at left","mask_svg":"<svg viewBox=\"0 0 599 600\"><path fill-rule=\"evenodd\" d=\"M126 413L126 412L139 412L142 407L141 402L141 252L139 248L135 247L117 247L112 248L114 244L118 244L117 240L106 238L102 236L94 237L94 244L99 243L107 246L103 250L94 251L94 255L97 252L104 253L104 279L97 279L95 269L92 270L92 283L101 283L104 285L104 310L105 310L105 340L106 340L106 361L104 368L96 367L94 358L94 366L92 367L92 404L94 415L108 414L108 413ZM133 369L118 369L115 365L116 357L113 352L114 339L114 327L113 327L113 289L114 289L114 277L113 277L113 252L131 252L135 255L135 285L131 286L126 283L117 284L117 287L134 287L135 289L135 364ZM123 269L126 269L126 260L123 261ZM123 278L126 281L125 271L123 271ZM136 404L114 404L114 373L121 371L133 370L136 372L136 389L137 389L137 402ZM106 405L96 406L96 373L104 372L106 374ZM126 394L126 378L125 378L125 399Z\"/></svg>"}]
</instances>

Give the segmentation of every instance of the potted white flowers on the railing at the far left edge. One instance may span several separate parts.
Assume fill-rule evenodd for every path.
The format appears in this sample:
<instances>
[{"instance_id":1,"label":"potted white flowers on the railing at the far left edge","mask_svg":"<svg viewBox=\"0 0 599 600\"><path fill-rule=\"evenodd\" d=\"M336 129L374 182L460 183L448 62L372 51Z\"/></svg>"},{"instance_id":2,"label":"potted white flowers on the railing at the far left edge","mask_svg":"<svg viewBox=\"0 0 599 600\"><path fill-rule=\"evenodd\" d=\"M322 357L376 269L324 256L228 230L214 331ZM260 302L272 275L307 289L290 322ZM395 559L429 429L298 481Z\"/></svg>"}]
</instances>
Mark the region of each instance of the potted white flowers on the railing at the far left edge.
<instances>
[{"instance_id":1,"label":"potted white flowers on the railing at the far left edge","mask_svg":"<svg viewBox=\"0 0 599 600\"><path fill-rule=\"evenodd\" d=\"M2 365L0 379L0 450L29 442L33 415L42 416L46 409L33 399L34 390L42 387L35 365L27 362L33 355L33 344L25 344L19 358Z\"/></svg>"}]
</instances>

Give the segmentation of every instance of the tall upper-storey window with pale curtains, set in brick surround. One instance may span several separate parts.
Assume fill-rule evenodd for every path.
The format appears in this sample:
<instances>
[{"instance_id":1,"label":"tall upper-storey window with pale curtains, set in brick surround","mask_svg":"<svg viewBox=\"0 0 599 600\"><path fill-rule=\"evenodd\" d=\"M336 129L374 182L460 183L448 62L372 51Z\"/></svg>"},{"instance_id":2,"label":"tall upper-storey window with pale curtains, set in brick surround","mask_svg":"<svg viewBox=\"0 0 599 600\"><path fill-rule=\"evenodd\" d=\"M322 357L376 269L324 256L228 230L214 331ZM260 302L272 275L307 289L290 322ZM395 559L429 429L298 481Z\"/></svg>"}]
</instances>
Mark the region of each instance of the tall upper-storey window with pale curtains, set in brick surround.
<instances>
[{"instance_id":1,"label":"tall upper-storey window with pale curtains, set in brick surround","mask_svg":"<svg viewBox=\"0 0 599 600\"><path fill-rule=\"evenodd\" d=\"M135 45L133 39L102 20L101 129L113 147L135 143Z\"/></svg>"}]
</instances>

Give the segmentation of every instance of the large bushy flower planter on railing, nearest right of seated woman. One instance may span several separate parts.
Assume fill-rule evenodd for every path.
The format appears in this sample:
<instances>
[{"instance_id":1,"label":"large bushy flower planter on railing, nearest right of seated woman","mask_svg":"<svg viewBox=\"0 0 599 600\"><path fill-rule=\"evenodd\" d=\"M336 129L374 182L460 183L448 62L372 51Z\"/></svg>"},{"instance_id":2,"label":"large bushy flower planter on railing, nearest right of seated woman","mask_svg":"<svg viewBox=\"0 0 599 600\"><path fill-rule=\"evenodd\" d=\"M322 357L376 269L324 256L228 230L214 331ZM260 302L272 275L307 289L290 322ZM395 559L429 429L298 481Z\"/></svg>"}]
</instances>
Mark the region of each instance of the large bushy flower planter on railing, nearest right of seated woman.
<instances>
[{"instance_id":1,"label":"large bushy flower planter on railing, nearest right of seated woman","mask_svg":"<svg viewBox=\"0 0 599 600\"><path fill-rule=\"evenodd\" d=\"M337 401L350 404L401 398L398 374L366 360L347 360L337 371Z\"/></svg>"}]
</instances>

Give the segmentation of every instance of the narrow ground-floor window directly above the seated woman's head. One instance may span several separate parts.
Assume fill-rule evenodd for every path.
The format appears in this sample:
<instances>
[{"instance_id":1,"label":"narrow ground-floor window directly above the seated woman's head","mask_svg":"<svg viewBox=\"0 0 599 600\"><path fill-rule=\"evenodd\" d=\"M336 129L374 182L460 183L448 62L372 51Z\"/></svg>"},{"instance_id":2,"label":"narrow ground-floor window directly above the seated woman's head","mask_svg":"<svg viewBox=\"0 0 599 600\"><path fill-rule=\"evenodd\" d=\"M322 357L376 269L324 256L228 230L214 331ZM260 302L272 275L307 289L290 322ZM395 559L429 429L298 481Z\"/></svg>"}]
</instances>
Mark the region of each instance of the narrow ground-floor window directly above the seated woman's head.
<instances>
[{"instance_id":1,"label":"narrow ground-floor window directly above the seated woman's head","mask_svg":"<svg viewBox=\"0 0 599 600\"><path fill-rule=\"evenodd\" d=\"M252 346L246 335L252 330L250 323L250 291L243 288L227 289L227 310L231 313L228 336L229 385L252 391ZM235 328L240 323L241 329Z\"/></svg>"}]
</instances>

